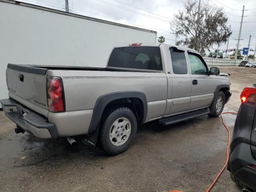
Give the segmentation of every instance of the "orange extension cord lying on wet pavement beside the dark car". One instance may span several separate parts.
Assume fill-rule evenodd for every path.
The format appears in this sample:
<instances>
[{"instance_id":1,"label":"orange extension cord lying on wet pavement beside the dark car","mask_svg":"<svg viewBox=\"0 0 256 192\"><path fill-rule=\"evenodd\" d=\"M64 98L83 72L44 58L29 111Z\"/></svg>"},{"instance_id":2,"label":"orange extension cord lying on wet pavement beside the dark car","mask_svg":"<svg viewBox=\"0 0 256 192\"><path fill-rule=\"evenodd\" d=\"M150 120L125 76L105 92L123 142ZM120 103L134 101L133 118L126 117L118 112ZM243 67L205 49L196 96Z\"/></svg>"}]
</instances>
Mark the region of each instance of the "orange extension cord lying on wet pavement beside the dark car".
<instances>
[{"instance_id":1,"label":"orange extension cord lying on wet pavement beside the dark car","mask_svg":"<svg viewBox=\"0 0 256 192\"><path fill-rule=\"evenodd\" d=\"M229 159L229 146L230 146L230 131L228 129L228 126L226 125L226 123L224 122L224 119L222 117L223 114L233 114L233 115L237 115L237 113L235 112L224 112L220 115L222 123L224 125L224 127L226 128L226 130L228 131L228 146L227 146L227 154L226 154L226 162L224 164L224 166L222 167L222 169L220 170L220 172L218 173L218 175L216 176L216 178L214 179L214 181L212 182L212 184L210 185L210 187L206 190L206 192L210 192L210 190L212 189L212 187L216 184L218 178L220 178L222 172L225 170L226 166L228 165L228 159ZM169 191L169 192L182 192L182 191Z\"/></svg>"}]
</instances>

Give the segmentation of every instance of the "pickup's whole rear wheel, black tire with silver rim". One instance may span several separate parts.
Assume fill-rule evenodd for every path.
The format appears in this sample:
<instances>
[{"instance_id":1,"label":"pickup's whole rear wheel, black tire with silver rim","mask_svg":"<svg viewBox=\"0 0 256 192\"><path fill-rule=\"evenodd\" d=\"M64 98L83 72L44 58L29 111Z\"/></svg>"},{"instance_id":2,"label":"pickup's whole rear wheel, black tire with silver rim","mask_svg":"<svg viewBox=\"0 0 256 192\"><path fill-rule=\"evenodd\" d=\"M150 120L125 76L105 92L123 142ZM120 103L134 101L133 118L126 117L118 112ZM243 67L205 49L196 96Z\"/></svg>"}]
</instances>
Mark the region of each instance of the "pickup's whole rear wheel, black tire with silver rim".
<instances>
[{"instance_id":1,"label":"pickup's whole rear wheel, black tire with silver rim","mask_svg":"<svg viewBox=\"0 0 256 192\"><path fill-rule=\"evenodd\" d=\"M108 155L127 150L137 133L137 120L130 108L120 107L106 114L100 132L101 145Z\"/></svg>"}]
</instances>

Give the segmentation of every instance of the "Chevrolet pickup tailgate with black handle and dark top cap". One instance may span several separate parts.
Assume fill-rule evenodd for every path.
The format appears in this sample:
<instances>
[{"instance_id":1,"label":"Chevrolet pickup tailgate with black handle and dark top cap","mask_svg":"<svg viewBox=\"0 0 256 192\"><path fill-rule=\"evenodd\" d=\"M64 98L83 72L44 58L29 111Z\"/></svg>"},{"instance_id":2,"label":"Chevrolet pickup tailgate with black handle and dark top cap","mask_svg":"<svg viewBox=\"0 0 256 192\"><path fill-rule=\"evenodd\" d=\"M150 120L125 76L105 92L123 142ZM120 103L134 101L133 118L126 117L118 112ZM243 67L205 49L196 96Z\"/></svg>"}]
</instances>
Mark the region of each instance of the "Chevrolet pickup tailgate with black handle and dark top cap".
<instances>
[{"instance_id":1,"label":"Chevrolet pickup tailgate with black handle and dark top cap","mask_svg":"<svg viewBox=\"0 0 256 192\"><path fill-rule=\"evenodd\" d=\"M46 76L45 68L8 64L6 80L10 96L15 95L15 100L22 104L26 100L35 106L48 109ZM35 109L32 108L32 110Z\"/></svg>"}]
</instances>

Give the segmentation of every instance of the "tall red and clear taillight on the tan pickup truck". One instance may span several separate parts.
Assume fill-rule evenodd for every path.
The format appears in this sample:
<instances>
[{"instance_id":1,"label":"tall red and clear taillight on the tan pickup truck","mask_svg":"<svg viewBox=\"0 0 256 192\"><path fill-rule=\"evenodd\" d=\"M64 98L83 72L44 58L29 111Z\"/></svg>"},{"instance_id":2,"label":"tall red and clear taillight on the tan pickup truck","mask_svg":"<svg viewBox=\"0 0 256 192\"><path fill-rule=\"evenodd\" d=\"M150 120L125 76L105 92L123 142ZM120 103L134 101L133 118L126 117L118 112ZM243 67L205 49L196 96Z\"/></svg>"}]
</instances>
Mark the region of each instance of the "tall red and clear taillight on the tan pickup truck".
<instances>
[{"instance_id":1,"label":"tall red and clear taillight on the tan pickup truck","mask_svg":"<svg viewBox=\"0 0 256 192\"><path fill-rule=\"evenodd\" d=\"M64 91L60 77L47 77L46 95L48 110L51 112L64 112Z\"/></svg>"}]
</instances>

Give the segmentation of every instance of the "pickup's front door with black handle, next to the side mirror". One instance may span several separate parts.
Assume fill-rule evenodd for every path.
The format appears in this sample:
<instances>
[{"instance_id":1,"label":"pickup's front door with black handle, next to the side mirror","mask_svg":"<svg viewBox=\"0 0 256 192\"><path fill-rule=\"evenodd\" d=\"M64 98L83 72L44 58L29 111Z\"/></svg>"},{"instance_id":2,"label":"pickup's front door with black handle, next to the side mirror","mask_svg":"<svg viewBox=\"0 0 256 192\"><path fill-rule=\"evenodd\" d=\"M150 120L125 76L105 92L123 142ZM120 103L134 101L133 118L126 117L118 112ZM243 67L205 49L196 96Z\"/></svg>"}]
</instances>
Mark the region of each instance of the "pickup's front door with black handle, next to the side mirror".
<instances>
[{"instance_id":1,"label":"pickup's front door with black handle, next to the side mirror","mask_svg":"<svg viewBox=\"0 0 256 192\"><path fill-rule=\"evenodd\" d=\"M210 106L214 97L216 82L208 73L204 59L193 52L188 52L191 71L191 101L188 110Z\"/></svg>"}]
</instances>

